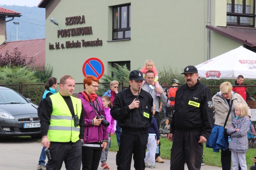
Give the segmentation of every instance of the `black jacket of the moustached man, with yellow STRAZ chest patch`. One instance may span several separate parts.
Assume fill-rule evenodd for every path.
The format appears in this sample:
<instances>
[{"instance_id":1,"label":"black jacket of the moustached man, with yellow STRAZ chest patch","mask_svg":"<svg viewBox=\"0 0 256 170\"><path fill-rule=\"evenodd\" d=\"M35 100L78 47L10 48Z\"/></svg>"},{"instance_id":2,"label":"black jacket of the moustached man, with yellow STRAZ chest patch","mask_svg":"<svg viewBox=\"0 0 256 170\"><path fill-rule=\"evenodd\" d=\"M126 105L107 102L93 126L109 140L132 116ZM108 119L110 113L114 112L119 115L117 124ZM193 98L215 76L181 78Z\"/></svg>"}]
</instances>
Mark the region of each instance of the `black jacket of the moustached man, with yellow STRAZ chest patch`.
<instances>
[{"instance_id":1,"label":"black jacket of the moustached man, with yellow STRAZ chest patch","mask_svg":"<svg viewBox=\"0 0 256 170\"><path fill-rule=\"evenodd\" d=\"M212 95L204 84L182 85L176 91L174 115L170 133L177 131L202 132L206 139L213 124Z\"/></svg>"}]
</instances>

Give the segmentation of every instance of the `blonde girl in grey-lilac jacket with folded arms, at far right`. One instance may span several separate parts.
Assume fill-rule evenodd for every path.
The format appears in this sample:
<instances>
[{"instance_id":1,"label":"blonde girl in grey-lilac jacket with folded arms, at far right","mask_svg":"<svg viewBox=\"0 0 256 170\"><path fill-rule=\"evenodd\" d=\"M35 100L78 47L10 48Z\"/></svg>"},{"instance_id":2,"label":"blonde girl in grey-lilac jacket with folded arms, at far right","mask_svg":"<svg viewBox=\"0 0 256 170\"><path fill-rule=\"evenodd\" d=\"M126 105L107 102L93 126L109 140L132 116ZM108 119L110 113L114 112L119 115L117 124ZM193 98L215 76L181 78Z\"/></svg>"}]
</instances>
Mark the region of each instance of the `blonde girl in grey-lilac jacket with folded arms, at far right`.
<instances>
[{"instance_id":1,"label":"blonde girl in grey-lilac jacket with folded arms, at far right","mask_svg":"<svg viewBox=\"0 0 256 170\"><path fill-rule=\"evenodd\" d=\"M247 132L249 130L249 119L247 106L244 103L238 103L235 106L236 118L232 120L227 133L230 135L229 150L232 157L232 169L238 169L240 164L241 170L247 170L245 153L248 149Z\"/></svg>"}]
</instances>

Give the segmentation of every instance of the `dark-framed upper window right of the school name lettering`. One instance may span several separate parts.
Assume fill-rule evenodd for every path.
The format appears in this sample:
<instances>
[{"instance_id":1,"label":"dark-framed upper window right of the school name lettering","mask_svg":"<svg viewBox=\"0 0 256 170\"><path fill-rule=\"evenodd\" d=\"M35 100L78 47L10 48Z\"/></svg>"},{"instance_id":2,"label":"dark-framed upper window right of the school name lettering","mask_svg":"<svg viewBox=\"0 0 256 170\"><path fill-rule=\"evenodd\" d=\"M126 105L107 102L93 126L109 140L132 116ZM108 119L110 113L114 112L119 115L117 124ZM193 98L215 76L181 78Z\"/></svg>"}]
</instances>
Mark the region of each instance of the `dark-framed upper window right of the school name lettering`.
<instances>
[{"instance_id":1,"label":"dark-framed upper window right of the school name lettering","mask_svg":"<svg viewBox=\"0 0 256 170\"><path fill-rule=\"evenodd\" d=\"M113 7L113 40L131 38L131 5Z\"/></svg>"}]
</instances>

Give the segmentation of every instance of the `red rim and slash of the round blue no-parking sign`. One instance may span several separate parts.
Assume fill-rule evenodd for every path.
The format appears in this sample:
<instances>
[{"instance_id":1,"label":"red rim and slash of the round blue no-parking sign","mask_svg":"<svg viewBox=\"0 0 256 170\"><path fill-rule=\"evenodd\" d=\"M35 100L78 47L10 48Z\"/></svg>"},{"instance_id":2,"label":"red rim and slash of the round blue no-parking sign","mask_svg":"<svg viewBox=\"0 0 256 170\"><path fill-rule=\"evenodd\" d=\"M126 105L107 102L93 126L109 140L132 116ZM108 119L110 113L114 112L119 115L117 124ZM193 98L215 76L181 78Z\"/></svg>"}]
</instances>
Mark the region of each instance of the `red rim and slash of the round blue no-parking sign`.
<instances>
[{"instance_id":1,"label":"red rim and slash of the round blue no-parking sign","mask_svg":"<svg viewBox=\"0 0 256 170\"><path fill-rule=\"evenodd\" d=\"M96 70L96 68L94 68L94 66L91 65L90 61L97 61L97 62L100 64L100 66L101 66L101 72L100 72L100 73L98 73L98 71ZM85 67L86 67L87 64L88 64L87 67L90 67L91 70L96 74L95 77L97 77L98 79L100 79L100 78L103 76L103 74L104 74L104 65L103 65L102 61L101 61L99 58L91 57L91 58L88 58L88 59L84 62L84 65L83 65L83 74L84 74L85 77L87 77L87 75L91 75L91 74L86 74L86 72L85 72Z\"/></svg>"}]
</instances>

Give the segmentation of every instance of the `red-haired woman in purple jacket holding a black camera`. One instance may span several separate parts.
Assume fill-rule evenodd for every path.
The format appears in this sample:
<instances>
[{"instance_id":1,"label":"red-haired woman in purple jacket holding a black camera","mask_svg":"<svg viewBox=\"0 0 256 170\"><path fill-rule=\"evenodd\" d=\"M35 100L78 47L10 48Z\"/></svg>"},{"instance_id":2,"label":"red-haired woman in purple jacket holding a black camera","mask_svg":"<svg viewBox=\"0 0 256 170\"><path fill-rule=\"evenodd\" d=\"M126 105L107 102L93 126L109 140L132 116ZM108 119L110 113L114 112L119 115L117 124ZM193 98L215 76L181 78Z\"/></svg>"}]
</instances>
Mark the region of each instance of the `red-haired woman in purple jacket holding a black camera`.
<instances>
[{"instance_id":1,"label":"red-haired woman in purple jacket holding a black camera","mask_svg":"<svg viewBox=\"0 0 256 170\"><path fill-rule=\"evenodd\" d=\"M99 80L88 75L84 78L84 91L78 94L84 106L84 144L82 147L82 170L97 170L100 162L101 151L108 142L108 130L102 124L105 117L101 97L96 95ZM98 118L98 119L97 119Z\"/></svg>"}]
</instances>

